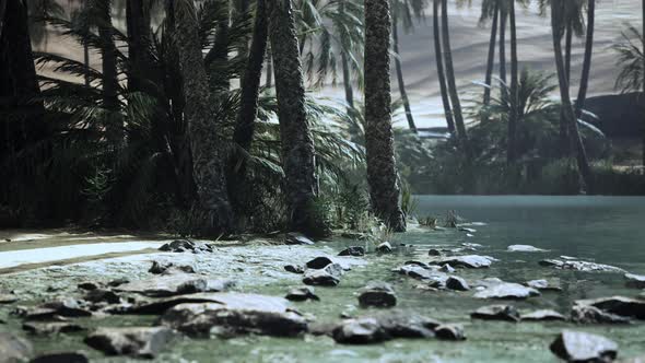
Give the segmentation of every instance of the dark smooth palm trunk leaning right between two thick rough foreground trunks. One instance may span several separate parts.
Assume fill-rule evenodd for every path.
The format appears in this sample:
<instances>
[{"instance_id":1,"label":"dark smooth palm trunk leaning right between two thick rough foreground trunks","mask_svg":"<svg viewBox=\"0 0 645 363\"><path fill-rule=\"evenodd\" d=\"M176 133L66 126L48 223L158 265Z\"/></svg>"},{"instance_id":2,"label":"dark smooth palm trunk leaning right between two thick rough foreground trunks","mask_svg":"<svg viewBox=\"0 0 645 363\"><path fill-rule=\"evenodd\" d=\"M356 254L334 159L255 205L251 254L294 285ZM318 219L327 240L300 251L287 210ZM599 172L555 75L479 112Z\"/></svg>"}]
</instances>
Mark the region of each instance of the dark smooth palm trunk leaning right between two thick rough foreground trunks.
<instances>
[{"instance_id":1,"label":"dark smooth palm trunk leaning right between two thick rough foreground trunks","mask_svg":"<svg viewBox=\"0 0 645 363\"><path fill-rule=\"evenodd\" d=\"M233 133L233 140L245 150L250 149L253 141L254 125L258 113L262 63L267 52L268 28L265 8L265 0L257 0L250 51L241 84L239 113L237 114Z\"/></svg>"}]
</instances>

